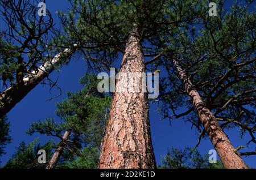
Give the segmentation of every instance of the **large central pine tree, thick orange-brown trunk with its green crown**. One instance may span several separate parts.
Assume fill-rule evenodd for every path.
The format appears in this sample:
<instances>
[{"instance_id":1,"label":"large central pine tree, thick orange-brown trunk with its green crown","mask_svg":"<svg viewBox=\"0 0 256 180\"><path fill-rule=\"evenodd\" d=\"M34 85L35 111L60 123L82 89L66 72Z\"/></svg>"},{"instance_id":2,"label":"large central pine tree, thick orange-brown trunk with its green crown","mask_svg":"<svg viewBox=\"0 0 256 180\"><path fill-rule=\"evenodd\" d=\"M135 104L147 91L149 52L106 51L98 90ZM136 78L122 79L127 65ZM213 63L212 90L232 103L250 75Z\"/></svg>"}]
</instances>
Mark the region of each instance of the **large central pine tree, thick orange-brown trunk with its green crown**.
<instances>
[{"instance_id":1,"label":"large central pine tree, thick orange-brown trunk with its green crown","mask_svg":"<svg viewBox=\"0 0 256 180\"><path fill-rule=\"evenodd\" d=\"M150 38L155 37L159 27L168 26L174 34L179 33L179 27L193 23L206 11L201 3L203 1L72 1L71 14L62 14L61 19L72 40L84 44L83 40L90 38L97 46L90 52L82 50L86 59L103 55L111 63L121 52L120 72L146 72L144 57L154 58L162 53ZM77 35L77 32L80 33ZM146 62L148 64L150 62ZM138 79L141 80L141 76ZM123 85L118 79L116 89L127 87ZM147 92L115 92L99 168L154 167Z\"/></svg>"}]
</instances>

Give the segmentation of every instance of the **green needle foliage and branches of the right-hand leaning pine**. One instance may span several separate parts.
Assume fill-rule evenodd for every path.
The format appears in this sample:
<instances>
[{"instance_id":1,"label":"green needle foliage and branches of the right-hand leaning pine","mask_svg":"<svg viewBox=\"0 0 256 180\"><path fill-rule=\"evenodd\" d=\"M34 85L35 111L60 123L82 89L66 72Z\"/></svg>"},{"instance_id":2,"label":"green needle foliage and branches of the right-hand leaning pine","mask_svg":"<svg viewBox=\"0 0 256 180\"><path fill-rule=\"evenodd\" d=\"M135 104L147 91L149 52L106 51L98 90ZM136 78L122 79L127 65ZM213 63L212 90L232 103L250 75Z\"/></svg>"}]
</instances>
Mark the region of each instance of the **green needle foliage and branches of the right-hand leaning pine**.
<instances>
[{"instance_id":1,"label":"green needle foliage and branches of the right-hand leaning pine","mask_svg":"<svg viewBox=\"0 0 256 180\"><path fill-rule=\"evenodd\" d=\"M184 117L203 131L171 59L175 58L222 128L236 128L255 143L255 13L251 2L234 2L228 11L218 1L218 15L202 14L198 24L179 36L163 32L166 54L159 60L168 75L160 80L160 112L165 118ZM194 34L191 30L194 29ZM160 41L159 41L160 42ZM180 108L186 108L179 112ZM203 134L205 136L205 134ZM249 143L250 143L249 142Z\"/></svg>"}]
</instances>

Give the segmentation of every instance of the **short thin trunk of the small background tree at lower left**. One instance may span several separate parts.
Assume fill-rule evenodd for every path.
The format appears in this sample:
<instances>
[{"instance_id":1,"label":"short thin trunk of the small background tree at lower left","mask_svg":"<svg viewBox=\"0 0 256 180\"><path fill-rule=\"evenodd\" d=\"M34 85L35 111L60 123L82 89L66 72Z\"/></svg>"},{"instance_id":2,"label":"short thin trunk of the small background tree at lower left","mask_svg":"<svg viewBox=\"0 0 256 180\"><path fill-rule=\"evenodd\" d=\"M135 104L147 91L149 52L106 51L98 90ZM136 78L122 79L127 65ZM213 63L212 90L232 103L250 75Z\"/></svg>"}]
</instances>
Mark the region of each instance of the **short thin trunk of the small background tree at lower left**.
<instances>
[{"instance_id":1,"label":"short thin trunk of the small background tree at lower left","mask_svg":"<svg viewBox=\"0 0 256 180\"><path fill-rule=\"evenodd\" d=\"M70 135L70 131L65 131L64 132L62 140L60 141L56 151L53 153L52 158L49 161L46 169L53 169L53 168L55 168L55 166L57 165L57 162L58 162L61 154L63 153L63 149L64 149L65 145L68 142L68 136L69 135Z\"/></svg>"}]
</instances>

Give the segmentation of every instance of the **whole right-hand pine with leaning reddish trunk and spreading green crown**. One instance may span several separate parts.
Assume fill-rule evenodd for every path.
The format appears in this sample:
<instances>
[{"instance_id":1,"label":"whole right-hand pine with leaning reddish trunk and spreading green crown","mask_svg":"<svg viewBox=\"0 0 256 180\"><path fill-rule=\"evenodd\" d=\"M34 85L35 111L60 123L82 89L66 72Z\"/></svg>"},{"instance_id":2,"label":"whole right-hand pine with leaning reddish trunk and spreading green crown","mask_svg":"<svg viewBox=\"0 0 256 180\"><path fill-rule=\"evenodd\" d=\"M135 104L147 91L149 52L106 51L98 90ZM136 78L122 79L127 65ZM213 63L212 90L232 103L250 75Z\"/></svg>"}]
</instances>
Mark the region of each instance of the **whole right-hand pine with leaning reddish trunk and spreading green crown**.
<instances>
[{"instance_id":1,"label":"whole right-hand pine with leaning reddish trunk and spreading green crown","mask_svg":"<svg viewBox=\"0 0 256 180\"><path fill-rule=\"evenodd\" d=\"M203 130L199 128L200 139L207 132L225 168L247 166L221 127L234 123L248 131L252 138L250 142L255 143L255 114L250 110L250 106L255 108L255 38L252 33L255 14L247 11L250 3L244 8L234 5L230 13L220 8L222 11L216 18L202 16L201 34L194 33L191 38L184 33L175 39L170 38L172 44L168 46L168 61L164 62L169 75L172 75L166 79L170 81L167 84L171 85L171 92L168 90L170 87L165 87L166 91L160 97L164 102L164 117L179 118L192 114L188 121L197 128L203 125ZM223 3L220 2L220 6ZM184 101L187 95L192 104ZM184 105L188 110L176 114L177 108ZM168 113L170 110L172 115ZM218 120L226 122L219 125Z\"/></svg>"}]
</instances>

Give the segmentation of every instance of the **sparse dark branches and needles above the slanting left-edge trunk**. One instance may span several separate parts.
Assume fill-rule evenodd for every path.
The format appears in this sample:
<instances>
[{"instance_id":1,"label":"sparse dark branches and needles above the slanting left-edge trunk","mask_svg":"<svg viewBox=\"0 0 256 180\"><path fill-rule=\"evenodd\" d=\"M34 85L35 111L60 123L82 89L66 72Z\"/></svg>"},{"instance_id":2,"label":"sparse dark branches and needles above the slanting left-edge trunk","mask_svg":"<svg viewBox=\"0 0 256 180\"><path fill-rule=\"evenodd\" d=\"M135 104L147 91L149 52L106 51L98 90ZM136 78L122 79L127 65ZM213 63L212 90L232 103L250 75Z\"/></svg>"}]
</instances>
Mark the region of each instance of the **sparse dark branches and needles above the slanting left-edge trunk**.
<instances>
[{"instance_id":1,"label":"sparse dark branches and needles above the slanting left-edge trunk","mask_svg":"<svg viewBox=\"0 0 256 180\"><path fill-rule=\"evenodd\" d=\"M59 30L50 11L44 18L38 15L38 2L1 1L0 9L0 83L6 88L38 72L40 65L64 48L52 48L59 42Z\"/></svg>"}]
</instances>

